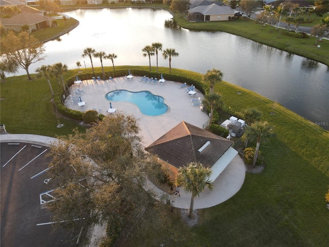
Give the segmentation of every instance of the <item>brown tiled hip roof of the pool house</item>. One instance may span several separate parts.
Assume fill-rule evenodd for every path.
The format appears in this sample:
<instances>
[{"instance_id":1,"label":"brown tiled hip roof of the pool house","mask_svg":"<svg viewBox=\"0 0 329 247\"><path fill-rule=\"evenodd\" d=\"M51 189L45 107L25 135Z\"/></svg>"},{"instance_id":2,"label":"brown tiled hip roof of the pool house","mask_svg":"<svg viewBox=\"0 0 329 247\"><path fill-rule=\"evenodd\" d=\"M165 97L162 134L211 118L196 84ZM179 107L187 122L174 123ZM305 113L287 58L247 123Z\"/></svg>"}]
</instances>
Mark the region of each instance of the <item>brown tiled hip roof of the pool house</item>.
<instances>
[{"instance_id":1,"label":"brown tiled hip roof of the pool house","mask_svg":"<svg viewBox=\"0 0 329 247\"><path fill-rule=\"evenodd\" d=\"M199 152L208 141L210 144ZM177 168L191 162L211 168L232 144L231 140L182 121L145 150Z\"/></svg>"}]
</instances>

